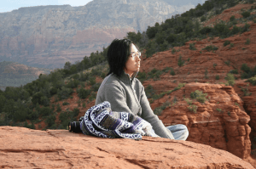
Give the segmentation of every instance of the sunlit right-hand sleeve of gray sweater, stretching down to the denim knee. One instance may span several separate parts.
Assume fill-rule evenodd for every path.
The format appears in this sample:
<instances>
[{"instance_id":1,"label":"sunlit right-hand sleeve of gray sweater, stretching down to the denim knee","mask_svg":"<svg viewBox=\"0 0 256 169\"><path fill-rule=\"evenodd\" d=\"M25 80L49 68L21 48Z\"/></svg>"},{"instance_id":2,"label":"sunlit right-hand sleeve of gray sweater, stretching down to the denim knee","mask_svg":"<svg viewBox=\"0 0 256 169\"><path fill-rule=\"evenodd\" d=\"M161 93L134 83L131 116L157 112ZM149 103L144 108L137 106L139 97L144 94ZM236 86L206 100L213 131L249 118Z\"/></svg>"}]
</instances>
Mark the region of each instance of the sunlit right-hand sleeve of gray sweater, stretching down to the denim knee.
<instances>
[{"instance_id":1,"label":"sunlit right-hand sleeve of gray sweater, stretching down to the denim knee","mask_svg":"<svg viewBox=\"0 0 256 169\"><path fill-rule=\"evenodd\" d=\"M174 139L172 136L172 132L168 130L162 121L158 118L157 115L154 115L153 110L150 107L150 104L148 102L148 98L146 96L146 93L144 91L144 87L142 87L141 91L141 106L142 106L142 118L146 121L148 121L151 126L154 129L154 132L159 135L161 138L170 138Z\"/></svg>"}]
</instances>

